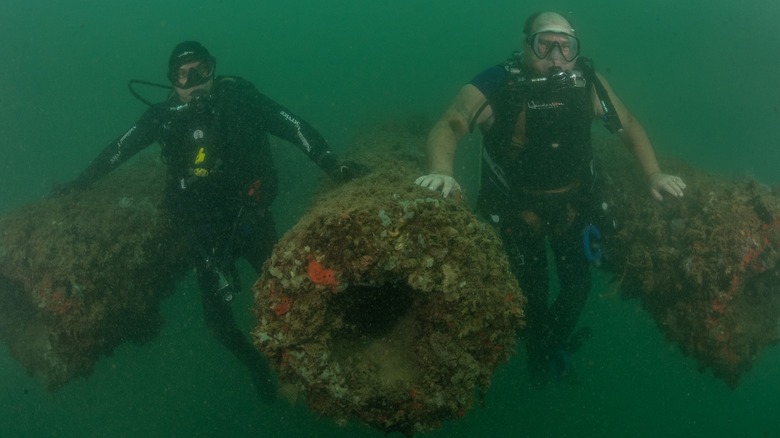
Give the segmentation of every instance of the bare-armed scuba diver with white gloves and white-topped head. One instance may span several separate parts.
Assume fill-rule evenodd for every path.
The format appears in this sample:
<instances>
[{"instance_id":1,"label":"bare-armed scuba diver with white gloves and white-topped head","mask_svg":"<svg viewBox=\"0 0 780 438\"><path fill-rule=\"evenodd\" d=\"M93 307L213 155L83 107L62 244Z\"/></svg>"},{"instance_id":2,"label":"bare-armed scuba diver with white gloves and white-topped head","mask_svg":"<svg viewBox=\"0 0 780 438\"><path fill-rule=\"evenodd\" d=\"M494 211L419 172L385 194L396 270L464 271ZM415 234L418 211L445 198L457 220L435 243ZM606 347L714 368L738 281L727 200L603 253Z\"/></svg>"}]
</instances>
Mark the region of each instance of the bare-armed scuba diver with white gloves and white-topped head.
<instances>
[{"instance_id":1,"label":"bare-armed scuba diver with white gloves and white-topped head","mask_svg":"<svg viewBox=\"0 0 780 438\"><path fill-rule=\"evenodd\" d=\"M591 245L614 227L600 197L591 148L598 117L618 133L647 177L652 195L683 196L685 183L662 173L642 125L580 57L571 23L554 12L525 22L523 52L478 74L432 128L430 174L416 183L443 196L460 191L453 178L458 141L474 127L483 137L477 209L500 234L512 271L528 298L525 341L533 386L569 373L569 354L588 328L575 331L591 289ZM547 247L559 293L550 303Z\"/></svg>"}]
</instances>

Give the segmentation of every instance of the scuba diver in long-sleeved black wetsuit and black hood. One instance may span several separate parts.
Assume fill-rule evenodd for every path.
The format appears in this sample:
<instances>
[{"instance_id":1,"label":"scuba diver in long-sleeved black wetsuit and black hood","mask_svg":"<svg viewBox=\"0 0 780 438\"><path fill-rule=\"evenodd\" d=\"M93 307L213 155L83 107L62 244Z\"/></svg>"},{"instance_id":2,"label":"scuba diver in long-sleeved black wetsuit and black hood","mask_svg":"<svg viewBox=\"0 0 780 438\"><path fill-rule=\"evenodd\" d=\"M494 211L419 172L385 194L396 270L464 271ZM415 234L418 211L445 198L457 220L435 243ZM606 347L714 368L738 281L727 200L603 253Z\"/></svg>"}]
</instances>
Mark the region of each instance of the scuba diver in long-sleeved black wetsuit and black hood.
<instances>
[{"instance_id":1,"label":"scuba diver in long-sleeved black wetsuit and black hood","mask_svg":"<svg viewBox=\"0 0 780 438\"><path fill-rule=\"evenodd\" d=\"M150 108L53 194L87 188L158 142L167 167L165 211L175 238L190 249L187 263L196 272L206 323L249 368L260 397L271 401L276 390L268 364L238 328L230 307L240 290L235 261L243 257L260 272L277 239L269 210L277 174L268 135L296 145L337 182L367 169L340 160L311 125L248 81L215 72L216 59L200 43L177 45L168 62L169 98L151 104L131 87Z\"/></svg>"}]
</instances>

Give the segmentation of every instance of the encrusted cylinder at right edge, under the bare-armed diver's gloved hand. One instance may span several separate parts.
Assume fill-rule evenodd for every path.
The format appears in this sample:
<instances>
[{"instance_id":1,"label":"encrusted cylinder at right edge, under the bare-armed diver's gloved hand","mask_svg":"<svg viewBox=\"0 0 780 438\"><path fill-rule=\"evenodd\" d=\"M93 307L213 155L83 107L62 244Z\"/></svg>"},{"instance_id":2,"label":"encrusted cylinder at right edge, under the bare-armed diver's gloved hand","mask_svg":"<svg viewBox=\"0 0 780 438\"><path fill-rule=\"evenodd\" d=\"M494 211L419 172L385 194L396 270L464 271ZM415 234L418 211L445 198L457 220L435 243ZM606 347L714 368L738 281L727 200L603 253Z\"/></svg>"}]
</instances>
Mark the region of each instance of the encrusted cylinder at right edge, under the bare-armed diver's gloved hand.
<instances>
[{"instance_id":1,"label":"encrusted cylinder at right edge, under the bare-armed diver's gloved hand","mask_svg":"<svg viewBox=\"0 0 780 438\"><path fill-rule=\"evenodd\" d=\"M688 188L655 202L622 146L597 153L619 224L607 243L617 284L703 370L736 386L778 341L780 198L755 181L662 162Z\"/></svg>"}]
</instances>

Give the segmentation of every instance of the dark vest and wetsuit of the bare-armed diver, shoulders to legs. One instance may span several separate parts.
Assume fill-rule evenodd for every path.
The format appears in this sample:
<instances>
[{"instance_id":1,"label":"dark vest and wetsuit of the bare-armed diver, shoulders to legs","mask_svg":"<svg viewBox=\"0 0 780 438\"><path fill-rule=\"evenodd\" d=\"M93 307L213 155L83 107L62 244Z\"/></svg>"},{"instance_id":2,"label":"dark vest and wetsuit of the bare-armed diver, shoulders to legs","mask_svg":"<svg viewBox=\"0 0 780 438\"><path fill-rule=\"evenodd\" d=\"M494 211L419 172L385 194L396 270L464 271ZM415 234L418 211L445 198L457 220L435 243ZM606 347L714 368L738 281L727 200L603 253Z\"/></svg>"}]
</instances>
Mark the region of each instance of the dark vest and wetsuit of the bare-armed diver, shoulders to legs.
<instances>
[{"instance_id":1,"label":"dark vest and wetsuit of the bare-armed diver, shoulders to legs","mask_svg":"<svg viewBox=\"0 0 780 438\"><path fill-rule=\"evenodd\" d=\"M534 374L546 376L551 355L565 348L591 288L582 231L598 209L590 137L594 113L591 82L551 90L522 75L519 63L508 62L471 84L487 96L494 117L483 132L478 209L501 235L528 297L529 370L538 378ZM560 283L552 305L546 241Z\"/></svg>"}]
</instances>

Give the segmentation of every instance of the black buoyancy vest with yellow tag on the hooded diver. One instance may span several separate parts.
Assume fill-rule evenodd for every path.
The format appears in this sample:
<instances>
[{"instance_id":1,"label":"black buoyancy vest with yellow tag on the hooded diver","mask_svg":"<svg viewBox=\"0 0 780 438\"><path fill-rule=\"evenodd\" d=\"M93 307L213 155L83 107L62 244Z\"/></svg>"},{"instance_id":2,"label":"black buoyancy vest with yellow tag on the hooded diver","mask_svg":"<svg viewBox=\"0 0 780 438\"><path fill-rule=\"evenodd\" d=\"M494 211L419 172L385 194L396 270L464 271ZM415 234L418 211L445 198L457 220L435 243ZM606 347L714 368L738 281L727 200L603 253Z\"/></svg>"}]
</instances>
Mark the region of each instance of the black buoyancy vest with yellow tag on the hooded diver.
<instances>
[{"instance_id":1,"label":"black buoyancy vest with yellow tag on the hooded diver","mask_svg":"<svg viewBox=\"0 0 780 438\"><path fill-rule=\"evenodd\" d=\"M276 173L255 101L240 83L220 77L209 95L169 108L163 124L162 158L169 196L181 208L234 209L246 202L268 206Z\"/></svg>"}]
</instances>

